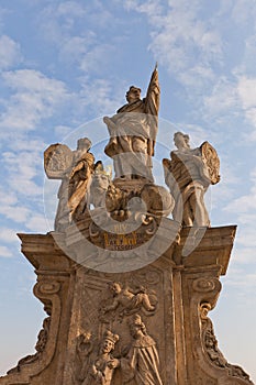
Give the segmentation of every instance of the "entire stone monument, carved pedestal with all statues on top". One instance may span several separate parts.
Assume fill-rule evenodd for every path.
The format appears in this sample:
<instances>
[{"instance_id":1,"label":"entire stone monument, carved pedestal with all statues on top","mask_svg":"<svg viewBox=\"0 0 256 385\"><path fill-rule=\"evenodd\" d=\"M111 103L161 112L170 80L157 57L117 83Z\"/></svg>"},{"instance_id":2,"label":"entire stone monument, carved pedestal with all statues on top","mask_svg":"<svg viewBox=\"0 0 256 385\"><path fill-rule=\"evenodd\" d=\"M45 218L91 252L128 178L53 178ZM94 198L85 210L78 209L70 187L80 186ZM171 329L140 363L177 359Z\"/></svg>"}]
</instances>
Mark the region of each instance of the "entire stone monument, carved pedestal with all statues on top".
<instances>
[{"instance_id":1,"label":"entire stone monument, carved pedestal with all statues on top","mask_svg":"<svg viewBox=\"0 0 256 385\"><path fill-rule=\"evenodd\" d=\"M87 138L45 151L47 177L62 180L55 229L19 237L46 318L35 353L0 385L253 384L221 353L209 317L236 231L211 228L204 204L220 161L177 132L163 160L168 189L154 183L159 95L155 68L144 99L132 86L103 118L113 178Z\"/></svg>"}]
</instances>

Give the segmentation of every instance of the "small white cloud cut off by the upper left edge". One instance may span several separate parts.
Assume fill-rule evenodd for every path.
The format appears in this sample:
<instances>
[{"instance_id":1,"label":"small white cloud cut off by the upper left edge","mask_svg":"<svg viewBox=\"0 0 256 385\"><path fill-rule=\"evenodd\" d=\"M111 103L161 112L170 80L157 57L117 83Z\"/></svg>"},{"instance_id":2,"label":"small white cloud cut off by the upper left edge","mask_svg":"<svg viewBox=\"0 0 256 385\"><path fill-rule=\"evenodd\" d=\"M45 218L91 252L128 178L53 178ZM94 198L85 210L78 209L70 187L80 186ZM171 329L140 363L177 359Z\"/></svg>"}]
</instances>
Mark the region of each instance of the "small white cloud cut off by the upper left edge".
<instances>
[{"instance_id":1,"label":"small white cloud cut off by the upper left edge","mask_svg":"<svg viewBox=\"0 0 256 385\"><path fill-rule=\"evenodd\" d=\"M0 36L0 70L19 64L21 59L20 44L7 35Z\"/></svg>"}]
</instances>

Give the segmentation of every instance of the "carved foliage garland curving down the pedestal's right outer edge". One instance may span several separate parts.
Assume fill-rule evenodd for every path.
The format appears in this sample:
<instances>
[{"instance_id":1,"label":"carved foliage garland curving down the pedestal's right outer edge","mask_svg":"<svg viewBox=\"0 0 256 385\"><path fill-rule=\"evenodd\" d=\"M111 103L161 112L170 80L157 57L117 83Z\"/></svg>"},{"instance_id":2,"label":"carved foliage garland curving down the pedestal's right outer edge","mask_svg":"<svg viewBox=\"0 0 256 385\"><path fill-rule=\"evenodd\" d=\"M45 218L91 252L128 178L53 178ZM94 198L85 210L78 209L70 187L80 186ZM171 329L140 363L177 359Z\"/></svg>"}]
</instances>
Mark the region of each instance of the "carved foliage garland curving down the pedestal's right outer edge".
<instances>
[{"instance_id":1,"label":"carved foliage garland curving down the pedestal's right outer edge","mask_svg":"<svg viewBox=\"0 0 256 385\"><path fill-rule=\"evenodd\" d=\"M201 337L204 351L211 361L211 363L220 369L226 369L229 376L238 377L244 380L248 384L253 384L249 380L249 375L238 365L230 364L218 346L218 340L214 334L213 324L208 317L208 312L211 310L211 305L208 302L201 304L200 317L201 317Z\"/></svg>"}]
</instances>

